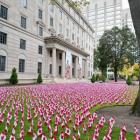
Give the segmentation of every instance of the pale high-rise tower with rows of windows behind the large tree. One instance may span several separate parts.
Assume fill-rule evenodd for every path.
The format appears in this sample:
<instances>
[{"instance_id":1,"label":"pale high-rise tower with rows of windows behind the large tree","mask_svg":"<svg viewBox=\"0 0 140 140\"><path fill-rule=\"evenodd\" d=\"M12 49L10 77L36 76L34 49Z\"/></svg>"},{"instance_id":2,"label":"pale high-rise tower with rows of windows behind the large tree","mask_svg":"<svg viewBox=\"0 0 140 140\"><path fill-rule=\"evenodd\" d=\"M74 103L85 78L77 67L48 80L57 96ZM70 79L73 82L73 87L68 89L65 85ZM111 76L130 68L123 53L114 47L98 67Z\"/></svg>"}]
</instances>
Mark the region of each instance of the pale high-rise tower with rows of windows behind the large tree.
<instances>
[{"instance_id":1,"label":"pale high-rise tower with rows of windows behind the large tree","mask_svg":"<svg viewBox=\"0 0 140 140\"><path fill-rule=\"evenodd\" d=\"M105 30L121 27L122 0L91 0L83 15L95 30L95 48Z\"/></svg>"}]
</instances>

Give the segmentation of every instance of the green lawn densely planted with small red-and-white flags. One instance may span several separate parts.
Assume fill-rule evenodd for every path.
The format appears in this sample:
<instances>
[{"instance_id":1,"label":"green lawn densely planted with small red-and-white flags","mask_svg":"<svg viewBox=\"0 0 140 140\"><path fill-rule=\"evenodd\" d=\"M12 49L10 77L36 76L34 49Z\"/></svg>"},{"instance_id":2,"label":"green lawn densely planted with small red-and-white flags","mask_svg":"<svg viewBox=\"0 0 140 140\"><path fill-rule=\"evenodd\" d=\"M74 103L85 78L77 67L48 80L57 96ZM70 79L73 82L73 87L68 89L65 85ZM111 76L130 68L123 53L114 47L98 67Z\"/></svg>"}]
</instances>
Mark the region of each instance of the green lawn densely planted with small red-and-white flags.
<instances>
[{"instance_id":1,"label":"green lawn densely planted with small red-and-white flags","mask_svg":"<svg viewBox=\"0 0 140 140\"><path fill-rule=\"evenodd\" d=\"M106 106L132 104L135 92L122 83L1 87L0 133L6 139L59 140L61 135L67 140L91 140L99 125L102 140L110 124L105 120L100 126L102 119L93 114ZM112 127L112 140L119 138L120 131ZM134 139L134 133L127 132L126 138Z\"/></svg>"}]
</instances>

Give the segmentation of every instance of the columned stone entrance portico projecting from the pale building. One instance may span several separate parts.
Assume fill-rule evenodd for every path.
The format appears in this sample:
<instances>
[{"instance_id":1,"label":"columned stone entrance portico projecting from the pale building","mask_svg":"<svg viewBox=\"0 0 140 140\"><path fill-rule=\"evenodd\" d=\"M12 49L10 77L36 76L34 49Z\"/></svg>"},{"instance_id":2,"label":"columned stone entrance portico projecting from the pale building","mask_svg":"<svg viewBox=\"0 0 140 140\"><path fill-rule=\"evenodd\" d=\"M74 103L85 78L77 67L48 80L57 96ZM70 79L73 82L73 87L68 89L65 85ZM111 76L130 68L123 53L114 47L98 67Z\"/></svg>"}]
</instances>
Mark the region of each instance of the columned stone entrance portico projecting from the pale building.
<instances>
[{"instance_id":1,"label":"columned stone entrance portico projecting from the pale building","mask_svg":"<svg viewBox=\"0 0 140 140\"><path fill-rule=\"evenodd\" d=\"M88 54L86 52L57 37L46 38L45 43L47 77L63 79L87 78L86 58ZM82 58L81 65L79 63L80 57Z\"/></svg>"}]
</instances>

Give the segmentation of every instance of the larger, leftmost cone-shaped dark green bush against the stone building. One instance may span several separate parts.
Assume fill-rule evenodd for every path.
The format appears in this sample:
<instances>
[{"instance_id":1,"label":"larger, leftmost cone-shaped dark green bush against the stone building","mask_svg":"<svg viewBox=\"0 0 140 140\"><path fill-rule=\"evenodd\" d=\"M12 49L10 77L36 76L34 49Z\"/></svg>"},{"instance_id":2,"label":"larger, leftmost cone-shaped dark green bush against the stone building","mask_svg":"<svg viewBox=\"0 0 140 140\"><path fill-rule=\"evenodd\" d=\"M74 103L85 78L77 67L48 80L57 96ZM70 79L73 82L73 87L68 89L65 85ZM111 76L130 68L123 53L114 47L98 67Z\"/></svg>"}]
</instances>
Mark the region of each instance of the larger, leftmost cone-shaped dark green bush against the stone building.
<instances>
[{"instance_id":1,"label":"larger, leftmost cone-shaped dark green bush against the stone building","mask_svg":"<svg viewBox=\"0 0 140 140\"><path fill-rule=\"evenodd\" d=\"M17 76L16 68L12 69L12 74L11 74L9 82L12 85L16 85L18 83L18 76Z\"/></svg>"}]
</instances>

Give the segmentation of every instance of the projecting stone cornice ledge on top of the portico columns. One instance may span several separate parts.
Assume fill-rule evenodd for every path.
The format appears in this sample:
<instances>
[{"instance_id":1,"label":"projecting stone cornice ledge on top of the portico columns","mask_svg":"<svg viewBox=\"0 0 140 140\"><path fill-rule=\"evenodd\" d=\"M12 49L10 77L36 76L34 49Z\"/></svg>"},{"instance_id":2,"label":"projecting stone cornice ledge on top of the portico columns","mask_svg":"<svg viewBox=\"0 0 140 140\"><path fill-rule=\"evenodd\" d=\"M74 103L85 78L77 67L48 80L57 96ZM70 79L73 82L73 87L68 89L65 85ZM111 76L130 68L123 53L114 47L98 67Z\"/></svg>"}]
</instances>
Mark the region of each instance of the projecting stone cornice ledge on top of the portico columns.
<instances>
[{"instance_id":1,"label":"projecting stone cornice ledge on top of the portico columns","mask_svg":"<svg viewBox=\"0 0 140 140\"><path fill-rule=\"evenodd\" d=\"M62 46L67 47L68 49L71 49L71 50L73 50L75 52L78 52L81 55L84 55L86 57L89 56L89 53L77 48L76 45L73 45L72 43L70 43L70 42L68 42L68 41L66 41L64 39L61 39L60 37L57 37L57 36L46 37L45 38L45 43L46 44L58 43L58 44L60 44Z\"/></svg>"}]
</instances>

